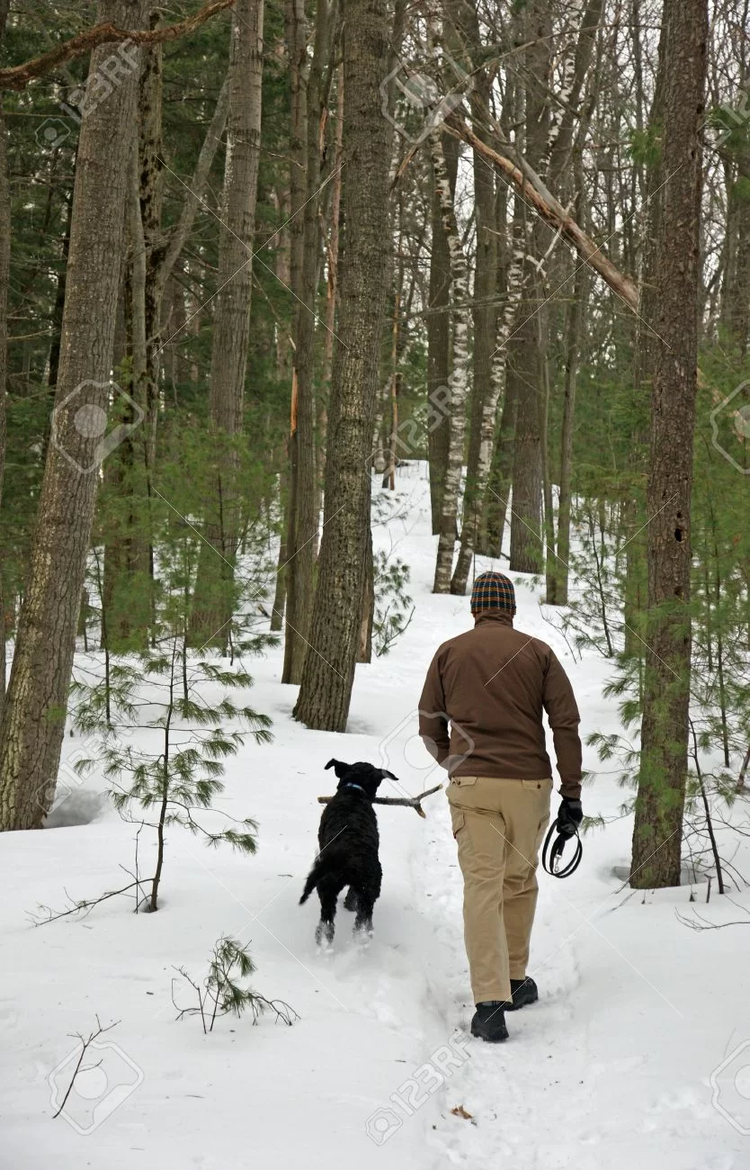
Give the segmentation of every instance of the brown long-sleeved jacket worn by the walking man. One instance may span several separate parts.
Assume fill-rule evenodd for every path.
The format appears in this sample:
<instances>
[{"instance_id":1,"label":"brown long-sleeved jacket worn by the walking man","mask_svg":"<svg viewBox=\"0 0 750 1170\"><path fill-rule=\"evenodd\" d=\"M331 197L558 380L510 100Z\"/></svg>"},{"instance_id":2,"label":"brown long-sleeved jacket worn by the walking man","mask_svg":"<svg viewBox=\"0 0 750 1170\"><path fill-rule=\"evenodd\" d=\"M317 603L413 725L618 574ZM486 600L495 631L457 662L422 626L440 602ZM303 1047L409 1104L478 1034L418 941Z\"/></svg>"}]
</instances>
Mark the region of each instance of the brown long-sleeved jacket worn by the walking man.
<instances>
[{"instance_id":1,"label":"brown long-sleeved jacket worn by the walking man","mask_svg":"<svg viewBox=\"0 0 750 1170\"><path fill-rule=\"evenodd\" d=\"M451 776L535 780L553 775L542 710L553 730L560 791L578 799L581 716L568 675L546 642L513 628L508 612L485 610L473 629L443 642L432 659L419 735Z\"/></svg>"}]
</instances>

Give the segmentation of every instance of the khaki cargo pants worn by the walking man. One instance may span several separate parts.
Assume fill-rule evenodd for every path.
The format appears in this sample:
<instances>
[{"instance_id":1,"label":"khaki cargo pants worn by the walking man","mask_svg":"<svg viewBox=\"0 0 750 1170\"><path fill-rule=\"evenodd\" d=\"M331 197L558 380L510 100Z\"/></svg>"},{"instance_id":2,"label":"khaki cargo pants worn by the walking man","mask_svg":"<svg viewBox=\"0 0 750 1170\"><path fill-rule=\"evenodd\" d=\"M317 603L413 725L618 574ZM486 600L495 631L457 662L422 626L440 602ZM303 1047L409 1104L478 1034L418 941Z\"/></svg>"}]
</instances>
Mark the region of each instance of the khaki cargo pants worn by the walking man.
<instances>
[{"instance_id":1,"label":"khaki cargo pants worn by the walking man","mask_svg":"<svg viewBox=\"0 0 750 1170\"><path fill-rule=\"evenodd\" d=\"M511 979L526 977L551 791L551 779L458 776L449 784L475 1004L511 999Z\"/></svg>"}]
</instances>

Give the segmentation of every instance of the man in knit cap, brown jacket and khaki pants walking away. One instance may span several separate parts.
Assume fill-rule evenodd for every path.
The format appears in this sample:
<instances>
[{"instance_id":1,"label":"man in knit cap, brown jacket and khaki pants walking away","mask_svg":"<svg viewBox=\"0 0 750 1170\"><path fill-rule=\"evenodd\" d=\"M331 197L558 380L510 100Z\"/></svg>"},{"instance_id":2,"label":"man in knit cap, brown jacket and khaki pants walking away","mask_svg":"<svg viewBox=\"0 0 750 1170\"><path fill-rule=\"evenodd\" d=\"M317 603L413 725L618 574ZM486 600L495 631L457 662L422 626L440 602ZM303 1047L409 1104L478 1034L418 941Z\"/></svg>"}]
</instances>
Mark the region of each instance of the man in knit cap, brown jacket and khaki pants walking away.
<instances>
[{"instance_id":1,"label":"man in knit cap, brown jacket and khaki pants walking away","mask_svg":"<svg viewBox=\"0 0 750 1170\"><path fill-rule=\"evenodd\" d=\"M419 735L451 777L447 799L477 1005L472 1035L496 1042L508 1035L505 1012L539 998L526 966L553 790L542 713L562 780L557 830L567 835L583 818L581 717L550 647L513 628L515 591L508 577L481 573L471 611L474 628L443 642L432 659L419 700Z\"/></svg>"}]
</instances>

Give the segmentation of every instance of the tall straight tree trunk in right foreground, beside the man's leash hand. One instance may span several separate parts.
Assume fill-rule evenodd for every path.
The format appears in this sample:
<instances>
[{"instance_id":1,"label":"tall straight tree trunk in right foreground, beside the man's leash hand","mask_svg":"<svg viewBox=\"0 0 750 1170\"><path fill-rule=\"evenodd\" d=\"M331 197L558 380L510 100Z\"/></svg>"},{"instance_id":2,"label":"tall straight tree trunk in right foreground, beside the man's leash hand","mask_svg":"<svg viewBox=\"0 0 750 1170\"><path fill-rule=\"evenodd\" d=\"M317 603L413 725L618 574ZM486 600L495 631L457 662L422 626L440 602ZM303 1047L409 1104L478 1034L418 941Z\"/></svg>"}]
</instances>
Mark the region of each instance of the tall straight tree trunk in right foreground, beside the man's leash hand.
<instances>
[{"instance_id":1,"label":"tall straight tree trunk in right foreground, beside the man's leash hand","mask_svg":"<svg viewBox=\"0 0 750 1170\"><path fill-rule=\"evenodd\" d=\"M648 651L631 886L679 886L690 695L690 489L707 0L665 0L664 188L647 489Z\"/></svg>"}]
</instances>

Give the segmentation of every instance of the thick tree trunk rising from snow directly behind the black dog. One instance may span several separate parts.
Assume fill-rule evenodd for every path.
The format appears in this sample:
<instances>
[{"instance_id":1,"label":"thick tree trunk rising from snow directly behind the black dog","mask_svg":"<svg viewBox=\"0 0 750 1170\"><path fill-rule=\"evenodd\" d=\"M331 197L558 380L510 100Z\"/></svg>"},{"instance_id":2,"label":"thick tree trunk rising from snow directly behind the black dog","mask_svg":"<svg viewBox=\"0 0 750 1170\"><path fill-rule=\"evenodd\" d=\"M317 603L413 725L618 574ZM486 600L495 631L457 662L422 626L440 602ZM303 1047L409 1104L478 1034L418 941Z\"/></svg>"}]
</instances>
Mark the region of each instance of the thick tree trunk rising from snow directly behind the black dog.
<instances>
[{"instance_id":1,"label":"thick tree trunk rising from snow directly behind the black dog","mask_svg":"<svg viewBox=\"0 0 750 1170\"><path fill-rule=\"evenodd\" d=\"M294 717L343 731L359 646L368 550L375 395L386 294L389 124L386 0L343 0L345 241L328 420L319 578Z\"/></svg>"}]
</instances>

